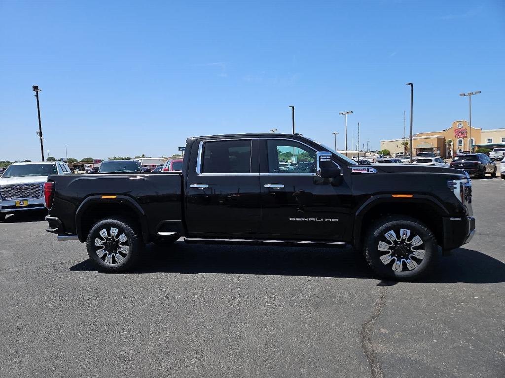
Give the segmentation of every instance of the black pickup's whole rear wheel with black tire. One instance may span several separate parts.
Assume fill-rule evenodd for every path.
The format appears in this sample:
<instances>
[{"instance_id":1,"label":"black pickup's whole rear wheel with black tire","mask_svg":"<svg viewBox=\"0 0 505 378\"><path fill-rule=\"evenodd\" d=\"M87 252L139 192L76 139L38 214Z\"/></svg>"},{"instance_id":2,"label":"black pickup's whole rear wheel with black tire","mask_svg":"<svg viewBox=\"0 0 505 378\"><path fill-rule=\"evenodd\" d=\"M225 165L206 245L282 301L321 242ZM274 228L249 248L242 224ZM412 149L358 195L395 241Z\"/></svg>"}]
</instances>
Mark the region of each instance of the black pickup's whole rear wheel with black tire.
<instances>
[{"instance_id":1,"label":"black pickup's whole rear wheel with black tire","mask_svg":"<svg viewBox=\"0 0 505 378\"><path fill-rule=\"evenodd\" d=\"M117 231L113 231L117 229ZM104 235L105 231L105 236ZM102 232L102 233L100 233ZM124 236L123 236L124 235ZM99 244L100 240L102 244ZM126 246L126 248L125 248ZM124 272L137 263L144 244L136 227L124 219L103 219L89 231L86 249L89 258L103 272ZM107 251L111 249L112 252ZM105 253L102 253L105 251Z\"/></svg>"}]
</instances>

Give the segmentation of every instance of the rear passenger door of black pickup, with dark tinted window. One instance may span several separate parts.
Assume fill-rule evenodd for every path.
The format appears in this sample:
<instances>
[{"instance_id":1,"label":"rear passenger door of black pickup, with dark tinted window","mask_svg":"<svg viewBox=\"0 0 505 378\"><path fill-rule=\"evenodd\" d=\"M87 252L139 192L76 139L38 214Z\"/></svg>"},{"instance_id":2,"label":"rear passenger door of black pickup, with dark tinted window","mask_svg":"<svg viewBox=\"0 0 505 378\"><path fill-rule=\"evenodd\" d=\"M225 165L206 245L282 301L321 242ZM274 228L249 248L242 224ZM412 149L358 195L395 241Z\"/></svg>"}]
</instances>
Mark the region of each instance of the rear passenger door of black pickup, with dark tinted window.
<instances>
[{"instance_id":1,"label":"rear passenger door of black pickup, with dark tinted window","mask_svg":"<svg viewBox=\"0 0 505 378\"><path fill-rule=\"evenodd\" d=\"M190 236L257 234L261 221L258 139L201 141L198 150L191 151L190 161L185 182Z\"/></svg>"}]
</instances>

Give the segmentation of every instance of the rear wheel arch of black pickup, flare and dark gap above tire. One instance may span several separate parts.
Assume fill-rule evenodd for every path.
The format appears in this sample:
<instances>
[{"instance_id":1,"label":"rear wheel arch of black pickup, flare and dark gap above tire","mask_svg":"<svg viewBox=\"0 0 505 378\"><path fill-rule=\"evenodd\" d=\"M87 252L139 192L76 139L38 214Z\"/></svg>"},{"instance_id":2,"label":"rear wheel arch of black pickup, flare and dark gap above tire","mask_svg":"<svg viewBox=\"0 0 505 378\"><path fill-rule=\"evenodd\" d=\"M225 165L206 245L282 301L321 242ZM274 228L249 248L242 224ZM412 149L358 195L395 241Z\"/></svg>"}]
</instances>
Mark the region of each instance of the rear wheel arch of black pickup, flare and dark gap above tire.
<instances>
[{"instance_id":1,"label":"rear wheel arch of black pickup, flare and dark gap above tire","mask_svg":"<svg viewBox=\"0 0 505 378\"><path fill-rule=\"evenodd\" d=\"M79 240L85 242L95 222L113 215L132 221L133 226L137 226L141 232L143 241L149 241L145 212L137 202L127 196L107 199L102 196L87 197L75 213L75 229Z\"/></svg>"}]
</instances>

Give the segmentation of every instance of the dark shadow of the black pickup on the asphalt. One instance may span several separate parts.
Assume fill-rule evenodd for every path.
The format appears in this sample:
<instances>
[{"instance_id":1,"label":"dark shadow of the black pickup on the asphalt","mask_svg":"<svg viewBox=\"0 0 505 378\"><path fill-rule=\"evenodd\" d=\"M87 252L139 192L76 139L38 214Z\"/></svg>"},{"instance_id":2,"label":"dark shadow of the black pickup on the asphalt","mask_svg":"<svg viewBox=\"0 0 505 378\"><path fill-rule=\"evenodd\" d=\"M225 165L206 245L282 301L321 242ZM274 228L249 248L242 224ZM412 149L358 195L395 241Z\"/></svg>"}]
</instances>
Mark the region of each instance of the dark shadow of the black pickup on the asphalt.
<instances>
[{"instance_id":1,"label":"dark shadow of the black pickup on the asphalt","mask_svg":"<svg viewBox=\"0 0 505 378\"><path fill-rule=\"evenodd\" d=\"M458 248L451 256L440 257L440 260L429 276L417 282L505 282L505 264L476 250ZM97 269L86 260L70 270ZM170 246L147 245L143 259L129 273L158 272L378 279L361 254L350 249L191 245L184 242ZM394 284L394 281L383 282Z\"/></svg>"}]
</instances>

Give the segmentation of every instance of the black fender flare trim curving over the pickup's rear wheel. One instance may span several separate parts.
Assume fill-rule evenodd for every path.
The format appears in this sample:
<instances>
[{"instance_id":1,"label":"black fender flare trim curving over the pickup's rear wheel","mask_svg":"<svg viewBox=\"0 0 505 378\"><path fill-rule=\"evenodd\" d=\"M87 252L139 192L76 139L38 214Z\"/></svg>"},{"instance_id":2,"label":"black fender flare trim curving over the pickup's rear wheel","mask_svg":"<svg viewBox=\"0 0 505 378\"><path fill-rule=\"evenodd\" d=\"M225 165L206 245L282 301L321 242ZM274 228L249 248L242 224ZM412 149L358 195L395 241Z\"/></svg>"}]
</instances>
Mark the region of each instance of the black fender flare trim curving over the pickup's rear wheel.
<instances>
[{"instance_id":1,"label":"black fender flare trim curving over the pickup's rear wheel","mask_svg":"<svg viewBox=\"0 0 505 378\"><path fill-rule=\"evenodd\" d=\"M144 240L144 242L146 243L148 242L149 233L145 212L136 201L134 201L131 197L128 196L116 196L116 198L102 198L102 196L86 197L84 201L81 202L81 204L77 208L77 211L75 212L75 230L81 242L85 242L87 238L87 235L82 234L82 222L81 222L82 215L90 206L97 203L103 203L103 204L119 203L128 206L131 210L133 210L133 212L138 217L142 231L142 239Z\"/></svg>"}]
</instances>

